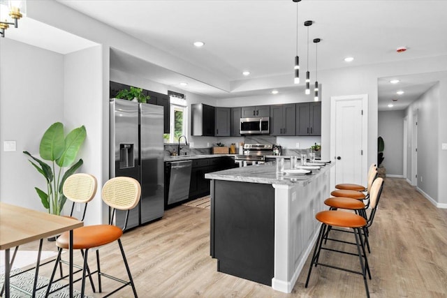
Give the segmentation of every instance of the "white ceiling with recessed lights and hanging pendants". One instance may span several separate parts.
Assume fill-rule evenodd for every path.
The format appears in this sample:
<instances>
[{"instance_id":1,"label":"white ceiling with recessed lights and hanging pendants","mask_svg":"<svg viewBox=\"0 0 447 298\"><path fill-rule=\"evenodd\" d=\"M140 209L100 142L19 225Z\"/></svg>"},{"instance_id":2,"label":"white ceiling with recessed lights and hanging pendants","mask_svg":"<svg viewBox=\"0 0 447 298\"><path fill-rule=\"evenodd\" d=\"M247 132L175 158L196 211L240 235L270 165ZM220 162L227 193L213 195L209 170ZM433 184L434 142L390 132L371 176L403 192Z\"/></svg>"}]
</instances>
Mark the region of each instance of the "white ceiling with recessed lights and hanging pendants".
<instances>
[{"instance_id":1,"label":"white ceiling with recessed lights and hanging pendants","mask_svg":"<svg viewBox=\"0 0 447 298\"><path fill-rule=\"evenodd\" d=\"M290 83L281 84L279 90L295 87L292 68L297 47L297 3L292 0L57 1L224 77L230 86L290 74ZM447 1L302 0L298 3L301 73L309 67L314 76L316 47L313 38L321 38L318 70L446 55L446 11ZM314 21L309 27L309 66L305 20ZM205 45L194 47L193 42L198 40ZM397 47L403 46L408 50L397 53ZM119 51L115 52L115 57L128 59ZM345 57L354 57L354 60L346 63ZM237 89L228 92L214 88L213 91L207 82L194 82L182 74L159 70L163 75L158 82L201 94L233 97L265 92L262 88L251 93L239 93ZM244 70L251 74L245 77ZM139 71L144 75L143 68ZM400 104L407 103L403 99L410 94L414 98L436 82L436 77L430 80L418 80L418 75L413 77L406 85L401 84L404 82L401 80L400 88L411 86L413 89L400 96ZM180 80L186 80L189 85L179 86ZM381 102L388 104L395 94L395 89L386 82L386 78L378 80L379 110Z\"/></svg>"}]
</instances>

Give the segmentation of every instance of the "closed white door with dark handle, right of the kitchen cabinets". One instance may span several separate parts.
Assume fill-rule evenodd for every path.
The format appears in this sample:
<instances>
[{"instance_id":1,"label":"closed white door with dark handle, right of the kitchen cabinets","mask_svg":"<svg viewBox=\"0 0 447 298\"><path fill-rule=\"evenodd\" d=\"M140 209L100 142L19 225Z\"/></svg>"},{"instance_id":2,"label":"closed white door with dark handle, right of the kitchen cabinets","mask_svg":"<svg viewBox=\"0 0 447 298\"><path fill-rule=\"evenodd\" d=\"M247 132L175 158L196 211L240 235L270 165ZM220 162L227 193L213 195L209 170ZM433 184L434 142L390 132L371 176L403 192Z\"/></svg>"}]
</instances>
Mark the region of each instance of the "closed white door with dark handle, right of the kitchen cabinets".
<instances>
[{"instance_id":1,"label":"closed white door with dark handle, right of the kitchen cabinets","mask_svg":"<svg viewBox=\"0 0 447 298\"><path fill-rule=\"evenodd\" d=\"M331 98L331 154L335 184L366 184L367 96Z\"/></svg>"}]
</instances>

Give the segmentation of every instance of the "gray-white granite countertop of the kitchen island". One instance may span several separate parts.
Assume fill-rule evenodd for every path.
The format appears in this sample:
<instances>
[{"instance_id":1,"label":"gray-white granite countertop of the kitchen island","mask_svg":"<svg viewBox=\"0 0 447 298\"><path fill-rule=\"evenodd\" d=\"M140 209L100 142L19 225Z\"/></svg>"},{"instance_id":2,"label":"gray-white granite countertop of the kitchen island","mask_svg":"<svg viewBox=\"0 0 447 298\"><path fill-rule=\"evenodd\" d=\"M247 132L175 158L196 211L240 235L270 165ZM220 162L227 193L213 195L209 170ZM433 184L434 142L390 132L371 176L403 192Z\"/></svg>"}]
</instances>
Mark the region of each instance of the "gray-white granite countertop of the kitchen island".
<instances>
[{"instance_id":1,"label":"gray-white granite countertop of the kitchen island","mask_svg":"<svg viewBox=\"0 0 447 298\"><path fill-rule=\"evenodd\" d=\"M212 172L205 174L207 179L251 182L258 184L284 184L284 185L302 185L309 184L312 179L324 172L327 172L333 163L327 163L320 170L312 170L312 174L289 175L277 174L274 162L268 162L263 165L251 165L249 167L237 167L230 170ZM286 161L284 168L290 169L290 162Z\"/></svg>"}]
</instances>

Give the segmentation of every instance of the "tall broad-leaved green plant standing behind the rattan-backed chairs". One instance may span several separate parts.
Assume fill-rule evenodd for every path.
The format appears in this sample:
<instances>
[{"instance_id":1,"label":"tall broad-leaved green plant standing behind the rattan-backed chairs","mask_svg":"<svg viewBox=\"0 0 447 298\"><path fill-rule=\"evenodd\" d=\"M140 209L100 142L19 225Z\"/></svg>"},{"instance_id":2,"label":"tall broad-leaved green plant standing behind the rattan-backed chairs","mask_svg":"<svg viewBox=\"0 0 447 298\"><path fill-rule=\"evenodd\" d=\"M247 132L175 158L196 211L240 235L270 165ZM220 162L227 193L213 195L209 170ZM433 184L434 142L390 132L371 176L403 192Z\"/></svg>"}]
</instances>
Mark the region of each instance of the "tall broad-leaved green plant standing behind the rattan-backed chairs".
<instances>
[{"instance_id":1,"label":"tall broad-leaved green plant standing behind the rattan-backed chairs","mask_svg":"<svg viewBox=\"0 0 447 298\"><path fill-rule=\"evenodd\" d=\"M75 158L86 135L85 126L75 128L64 136L64 124L60 122L52 124L43 134L39 146L39 155L43 160L50 161L50 165L32 156L28 151L23 151L24 154L32 158L32 160L29 159L29 162L47 181L46 192L38 187L35 189L41 198L43 207L48 209L50 214L60 215L64 208L67 198L62 193L62 187L65 180L74 174L83 163L82 159L75 162ZM65 170L66 167L68 167L67 170Z\"/></svg>"}]
</instances>

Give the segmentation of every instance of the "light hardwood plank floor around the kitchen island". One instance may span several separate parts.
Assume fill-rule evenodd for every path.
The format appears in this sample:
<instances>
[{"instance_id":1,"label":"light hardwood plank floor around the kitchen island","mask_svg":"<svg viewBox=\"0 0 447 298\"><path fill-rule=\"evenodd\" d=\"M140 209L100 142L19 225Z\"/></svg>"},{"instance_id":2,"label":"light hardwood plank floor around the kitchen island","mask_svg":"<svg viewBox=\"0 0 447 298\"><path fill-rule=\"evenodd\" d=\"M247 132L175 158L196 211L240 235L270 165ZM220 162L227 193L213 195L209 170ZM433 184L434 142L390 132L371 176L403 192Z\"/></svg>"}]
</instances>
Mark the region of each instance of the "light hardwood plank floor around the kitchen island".
<instances>
[{"instance_id":1,"label":"light hardwood plank floor around the kitchen island","mask_svg":"<svg viewBox=\"0 0 447 298\"><path fill-rule=\"evenodd\" d=\"M371 297L447 297L446 209L434 207L404 179L387 178L370 233ZM291 294L219 273L217 261L210 257L209 237L210 210L186 206L170 209L160 221L124 234L139 297L365 297L360 275L326 267L314 269L305 288L309 258ZM36 247L28 244L22 249ZM54 243L45 241L44 250L51 249ZM101 255L103 271L125 277L117 245L101 248ZM90 257L94 266L94 254ZM359 267L358 258L350 255L325 251L321 260ZM48 270L41 269L42 275ZM103 295L110 283L116 285L103 278ZM130 287L114 297L132 297Z\"/></svg>"}]
</instances>

